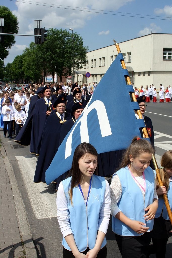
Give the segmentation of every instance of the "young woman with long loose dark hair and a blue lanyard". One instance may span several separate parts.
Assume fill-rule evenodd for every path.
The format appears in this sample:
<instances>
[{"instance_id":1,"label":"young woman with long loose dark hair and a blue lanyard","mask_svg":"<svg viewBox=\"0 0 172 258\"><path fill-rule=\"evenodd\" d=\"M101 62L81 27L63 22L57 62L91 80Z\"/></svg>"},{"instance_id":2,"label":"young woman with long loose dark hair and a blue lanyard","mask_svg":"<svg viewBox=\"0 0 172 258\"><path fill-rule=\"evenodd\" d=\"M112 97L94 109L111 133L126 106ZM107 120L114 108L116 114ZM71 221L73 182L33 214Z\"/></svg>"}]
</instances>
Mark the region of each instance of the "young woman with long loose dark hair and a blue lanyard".
<instances>
[{"instance_id":1,"label":"young woman with long loose dark hair and a blue lanyard","mask_svg":"<svg viewBox=\"0 0 172 258\"><path fill-rule=\"evenodd\" d=\"M63 234L64 258L105 258L110 218L110 188L97 176L97 151L89 143L77 146L69 177L57 192L57 216Z\"/></svg>"}]
</instances>

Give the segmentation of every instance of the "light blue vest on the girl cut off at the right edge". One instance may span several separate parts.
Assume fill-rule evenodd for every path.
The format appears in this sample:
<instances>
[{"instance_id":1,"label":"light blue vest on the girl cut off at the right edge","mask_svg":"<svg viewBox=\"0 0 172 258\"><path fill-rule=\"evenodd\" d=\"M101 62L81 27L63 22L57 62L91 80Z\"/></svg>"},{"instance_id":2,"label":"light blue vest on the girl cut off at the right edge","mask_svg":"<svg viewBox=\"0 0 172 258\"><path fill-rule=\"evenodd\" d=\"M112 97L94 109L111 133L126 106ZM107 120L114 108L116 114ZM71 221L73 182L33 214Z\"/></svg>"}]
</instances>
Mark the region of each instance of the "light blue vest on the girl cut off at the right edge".
<instances>
[{"instance_id":1,"label":"light blue vest on the girl cut off at the right edge","mask_svg":"<svg viewBox=\"0 0 172 258\"><path fill-rule=\"evenodd\" d=\"M167 192L167 197L168 197L170 208L172 210L172 181L170 182L170 186L169 186L169 189L168 189L168 192ZM162 213L163 219L170 220L162 195L159 196L158 209L157 209L157 212L155 214L155 218L160 217L161 213Z\"/></svg>"}]
</instances>

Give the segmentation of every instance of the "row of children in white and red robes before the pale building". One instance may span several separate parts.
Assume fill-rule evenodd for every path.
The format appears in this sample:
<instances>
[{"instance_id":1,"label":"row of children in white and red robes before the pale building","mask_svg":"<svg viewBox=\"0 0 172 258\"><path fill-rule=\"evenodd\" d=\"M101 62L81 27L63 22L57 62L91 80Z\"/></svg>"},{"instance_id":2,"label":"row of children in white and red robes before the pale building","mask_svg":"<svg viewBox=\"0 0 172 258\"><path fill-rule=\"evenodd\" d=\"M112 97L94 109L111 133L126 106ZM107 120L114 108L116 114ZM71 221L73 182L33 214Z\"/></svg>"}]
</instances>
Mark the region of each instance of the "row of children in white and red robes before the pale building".
<instances>
[{"instance_id":1,"label":"row of children in white and red robes before the pale building","mask_svg":"<svg viewBox=\"0 0 172 258\"><path fill-rule=\"evenodd\" d=\"M145 96L146 97L146 102L150 102L151 100L153 103L157 102L157 88L152 84L146 85L146 89L143 88L143 86L140 87L140 90L137 87L133 87L134 92L136 95L136 98L139 96ZM172 90L171 86L169 85L166 87L166 90L164 89L164 86L160 84L159 86L159 102L164 102L164 93L165 93L165 101L166 103L172 101Z\"/></svg>"}]
</instances>

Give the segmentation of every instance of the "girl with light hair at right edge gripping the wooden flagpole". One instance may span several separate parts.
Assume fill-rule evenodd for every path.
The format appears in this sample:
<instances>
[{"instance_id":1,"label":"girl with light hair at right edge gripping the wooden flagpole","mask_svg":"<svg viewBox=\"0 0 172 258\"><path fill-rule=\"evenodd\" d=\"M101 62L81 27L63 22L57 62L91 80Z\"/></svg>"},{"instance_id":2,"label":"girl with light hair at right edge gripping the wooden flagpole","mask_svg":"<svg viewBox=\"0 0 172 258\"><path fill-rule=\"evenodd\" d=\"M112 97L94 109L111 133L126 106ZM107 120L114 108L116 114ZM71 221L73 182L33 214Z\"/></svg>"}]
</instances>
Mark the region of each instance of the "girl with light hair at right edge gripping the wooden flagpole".
<instances>
[{"instance_id":1,"label":"girl with light hair at right edge gripping the wooden flagpole","mask_svg":"<svg viewBox=\"0 0 172 258\"><path fill-rule=\"evenodd\" d=\"M159 185L156 177L159 205L154 218L153 230L151 232L153 250L151 249L150 253L155 253L156 258L165 258L167 241L169 236L171 236L172 227L162 195L167 194L172 209L172 150L165 152L162 156L159 173L163 186Z\"/></svg>"}]
</instances>

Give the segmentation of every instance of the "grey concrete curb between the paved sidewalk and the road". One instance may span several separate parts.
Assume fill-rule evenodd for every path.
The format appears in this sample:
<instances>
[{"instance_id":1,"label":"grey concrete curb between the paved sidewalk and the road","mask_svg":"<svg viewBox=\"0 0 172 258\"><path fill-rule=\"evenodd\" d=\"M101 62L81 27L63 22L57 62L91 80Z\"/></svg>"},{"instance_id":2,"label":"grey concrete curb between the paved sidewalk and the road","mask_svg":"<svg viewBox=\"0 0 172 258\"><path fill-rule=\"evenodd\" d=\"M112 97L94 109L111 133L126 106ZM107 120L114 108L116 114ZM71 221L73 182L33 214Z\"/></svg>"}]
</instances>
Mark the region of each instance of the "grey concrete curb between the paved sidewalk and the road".
<instances>
[{"instance_id":1,"label":"grey concrete curb between the paved sidewalk and the road","mask_svg":"<svg viewBox=\"0 0 172 258\"><path fill-rule=\"evenodd\" d=\"M11 190L14 196L14 204L15 204L15 211L17 214L17 222L19 226L19 231L20 231L20 236L21 240L23 243L23 250L25 251L26 258L37 258L37 252L35 249L35 245L32 239L32 234L31 234L31 227L29 224L29 221L27 219L27 215L25 213L25 207L24 203L22 200L22 197L20 195L20 191L18 188L18 184L14 175L13 168L11 164L9 163L9 159L6 156L6 152L4 149L4 146L1 142L1 147L0 151L3 157L4 165L5 165L5 170L7 174L9 175L9 180L10 180L10 185L11 185ZM14 257L19 257L18 256L18 251L14 252Z\"/></svg>"}]
</instances>

